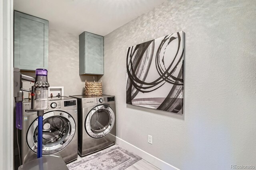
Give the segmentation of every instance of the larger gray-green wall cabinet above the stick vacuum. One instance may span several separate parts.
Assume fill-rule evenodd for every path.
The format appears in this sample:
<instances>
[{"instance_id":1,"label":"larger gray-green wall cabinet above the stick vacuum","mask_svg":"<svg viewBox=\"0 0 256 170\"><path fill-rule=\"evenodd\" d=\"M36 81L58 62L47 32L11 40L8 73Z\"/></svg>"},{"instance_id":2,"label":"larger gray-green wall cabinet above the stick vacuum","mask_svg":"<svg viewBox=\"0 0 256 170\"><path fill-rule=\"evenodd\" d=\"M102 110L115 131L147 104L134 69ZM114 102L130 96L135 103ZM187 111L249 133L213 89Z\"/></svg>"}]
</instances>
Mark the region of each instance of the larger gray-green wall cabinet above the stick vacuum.
<instances>
[{"instance_id":1,"label":"larger gray-green wall cabinet above the stick vacuum","mask_svg":"<svg viewBox=\"0 0 256 170\"><path fill-rule=\"evenodd\" d=\"M14 67L48 68L49 22L14 11Z\"/></svg>"}]
</instances>

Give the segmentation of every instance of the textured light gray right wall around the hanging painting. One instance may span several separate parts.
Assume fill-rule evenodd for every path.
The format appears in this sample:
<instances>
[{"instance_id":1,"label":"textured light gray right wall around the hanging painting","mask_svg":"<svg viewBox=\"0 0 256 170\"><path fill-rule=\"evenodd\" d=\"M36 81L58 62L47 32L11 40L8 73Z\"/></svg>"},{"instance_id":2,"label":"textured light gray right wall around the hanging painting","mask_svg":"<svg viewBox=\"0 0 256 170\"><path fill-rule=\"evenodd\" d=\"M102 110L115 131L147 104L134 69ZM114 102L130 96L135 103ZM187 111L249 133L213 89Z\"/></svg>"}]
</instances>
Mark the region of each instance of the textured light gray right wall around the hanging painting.
<instances>
[{"instance_id":1,"label":"textured light gray right wall around the hanging painting","mask_svg":"<svg viewBox=\"0 0 256 170\"><path fill-rule=\"evenodd\" d=\"M106 35L100 80L116 95L117 136L182 170L256 166L255 16L255 0L172 0ZM126 48L177 31L184 115L126 105Z\"/></svg>"}]
</instances>

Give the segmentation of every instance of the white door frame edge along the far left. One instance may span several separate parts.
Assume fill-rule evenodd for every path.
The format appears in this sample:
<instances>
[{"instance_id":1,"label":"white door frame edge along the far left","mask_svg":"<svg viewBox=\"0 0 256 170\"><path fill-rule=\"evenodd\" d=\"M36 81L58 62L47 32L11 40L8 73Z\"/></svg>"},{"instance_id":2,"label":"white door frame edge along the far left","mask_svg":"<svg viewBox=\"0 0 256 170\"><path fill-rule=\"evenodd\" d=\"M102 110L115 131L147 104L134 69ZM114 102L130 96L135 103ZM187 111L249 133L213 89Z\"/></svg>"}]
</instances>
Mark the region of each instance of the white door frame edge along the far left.
<instances>
[{"instance_id":1,"label":"white door frame edge along the far left","mask_svg":"<svg viewBox=\"0 0 256 170\"><path fill-rule=\"evenodd\" d=\"M13 0L0 0L0 169L13 170Z\"/></svg>"}]
</instances>

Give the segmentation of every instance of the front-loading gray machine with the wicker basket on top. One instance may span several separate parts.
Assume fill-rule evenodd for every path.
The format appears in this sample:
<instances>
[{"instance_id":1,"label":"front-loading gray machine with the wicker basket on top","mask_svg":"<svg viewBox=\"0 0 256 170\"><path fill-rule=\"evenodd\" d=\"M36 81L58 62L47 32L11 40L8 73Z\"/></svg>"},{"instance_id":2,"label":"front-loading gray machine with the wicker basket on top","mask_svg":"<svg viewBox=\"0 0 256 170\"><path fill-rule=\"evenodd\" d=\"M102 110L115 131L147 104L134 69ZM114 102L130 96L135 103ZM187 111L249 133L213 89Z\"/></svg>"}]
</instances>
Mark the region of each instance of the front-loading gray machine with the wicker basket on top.
<instances>
[{"instance_id":1,"label":"front-loading gray machine with the wicker basket on top","mask_svg":"<svg viewBox=\"0 0 256 170\"><path fill-rule=\"evenodd\" d=\"M86 156L116 142L115 96L70 96L77 98L78 154Z\"/></svg>"}]
</instances>

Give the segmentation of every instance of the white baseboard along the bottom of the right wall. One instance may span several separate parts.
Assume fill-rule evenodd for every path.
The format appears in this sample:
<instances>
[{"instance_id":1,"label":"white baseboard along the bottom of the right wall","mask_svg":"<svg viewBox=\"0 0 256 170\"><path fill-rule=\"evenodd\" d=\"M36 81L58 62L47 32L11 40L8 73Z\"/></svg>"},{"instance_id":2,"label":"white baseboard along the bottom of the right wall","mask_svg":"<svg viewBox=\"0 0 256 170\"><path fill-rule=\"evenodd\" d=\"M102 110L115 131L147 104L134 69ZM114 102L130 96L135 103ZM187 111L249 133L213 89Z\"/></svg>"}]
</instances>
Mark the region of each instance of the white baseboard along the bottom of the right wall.
<instances>
[{"instance_id":1,"label":"white baseboard along the bottom of the right wall","mask_svg":"<svg viewBox=\"0 0 256 170\"><path fill-rule=\"evenodd\" d=\"M145 152L144 150L141 150L138 147L135 147L134 145L124 141L123 139L120 139L119 137L116 137L116 143L121 147L124 147L134 152L135 154L142 157L150 164L160 168L161 170L179 170L178 168L168 164L167 162L164 162L163 160L160 160L159 158L156 158L156 156L153 156L152 154L149 154L148 152Z\"/></svg>"}]
</instances>

